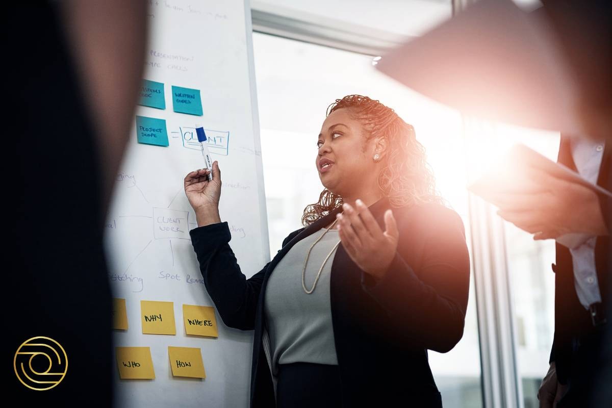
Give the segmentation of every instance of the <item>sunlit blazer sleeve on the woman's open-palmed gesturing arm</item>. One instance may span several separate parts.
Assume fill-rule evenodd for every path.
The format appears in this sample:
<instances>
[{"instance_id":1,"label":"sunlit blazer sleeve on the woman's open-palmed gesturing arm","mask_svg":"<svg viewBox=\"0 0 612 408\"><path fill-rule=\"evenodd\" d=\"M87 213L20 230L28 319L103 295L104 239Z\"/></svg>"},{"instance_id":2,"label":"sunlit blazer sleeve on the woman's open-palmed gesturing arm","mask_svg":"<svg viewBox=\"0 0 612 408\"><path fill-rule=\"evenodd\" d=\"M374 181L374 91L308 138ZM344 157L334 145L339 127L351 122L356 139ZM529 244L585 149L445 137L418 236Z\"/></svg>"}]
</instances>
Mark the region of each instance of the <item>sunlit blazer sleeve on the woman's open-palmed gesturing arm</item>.
<instances>
[{"instance_id":1,"label":"sunlit blazer sleeve on the woman's open-palmed gesturing arm","mask_svg":"<svg viewBox=\"0 0 612 408\"><path fill-rule=\"evenodd\" d=\"M419 270L405 261L406 248L398 247L383 278L362 272L362 287L389 314L396 333L426 349L448 352L463 336L470 265L463 221L450 209L436 212L422 232ZM401 233L419 231L400 227Z\"/></svg>"}]
</instances>

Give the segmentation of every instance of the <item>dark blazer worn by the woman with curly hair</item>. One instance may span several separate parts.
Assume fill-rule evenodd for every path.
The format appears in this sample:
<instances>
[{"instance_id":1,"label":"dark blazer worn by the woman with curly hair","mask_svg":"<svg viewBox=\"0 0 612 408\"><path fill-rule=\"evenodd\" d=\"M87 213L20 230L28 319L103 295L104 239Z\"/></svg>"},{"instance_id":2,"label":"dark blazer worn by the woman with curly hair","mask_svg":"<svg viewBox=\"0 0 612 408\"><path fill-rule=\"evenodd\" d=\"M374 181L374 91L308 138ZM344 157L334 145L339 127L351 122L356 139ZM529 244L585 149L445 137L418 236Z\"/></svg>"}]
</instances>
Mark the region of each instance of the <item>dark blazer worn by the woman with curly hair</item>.
<instances>
[{"instance_id":1,"label":"dark blazer worn by the woman with curly hair","mask_svg":"<svg viewBox=\"0 0 612 408\"><path fill-rule=\"evenodd\" d=\"M386 198L370 206L384 229ZM386 275L375 281L338 246L330 299L345 406L440 407L427 349L447 352L463 335L469 255L463 222L437 204L392 209L400 239ZM341 207L283 241L250 279L236 263L226 222L193 229L193 248L206 289L229 327L255 330L251 406L274 407L271 371L262 346L266 282L278 261L304 237L330 224ZM277 271L276 273L282 273Z\"/></svg>"}]
</instances>

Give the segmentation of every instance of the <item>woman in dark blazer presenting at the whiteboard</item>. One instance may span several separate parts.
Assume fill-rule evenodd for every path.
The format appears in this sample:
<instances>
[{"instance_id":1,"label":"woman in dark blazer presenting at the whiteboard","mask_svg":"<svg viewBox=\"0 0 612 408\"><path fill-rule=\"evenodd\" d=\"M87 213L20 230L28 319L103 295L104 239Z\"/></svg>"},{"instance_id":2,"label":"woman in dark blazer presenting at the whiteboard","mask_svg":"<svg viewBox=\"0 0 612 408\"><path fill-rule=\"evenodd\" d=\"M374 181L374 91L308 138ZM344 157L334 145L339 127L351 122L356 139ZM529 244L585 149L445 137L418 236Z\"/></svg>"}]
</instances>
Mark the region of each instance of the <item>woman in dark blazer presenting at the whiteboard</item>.
<instances>
[{"instance_id":1,"label":"woman in dark blazer presenting at the whiteboard","mask_svg":"<svg viewBox=\"0 0 612 408\"><path fill-rule=\"evenodd\" d=\"M255 330L250 404L441 407L427 350L463 335L461 218L436 195L412 126L376 100L332 103L316 146L319 201L250 279L219 217L217 161L211 181L185 177L206 289L226 325Z\"/></svg>"}]
</instances>

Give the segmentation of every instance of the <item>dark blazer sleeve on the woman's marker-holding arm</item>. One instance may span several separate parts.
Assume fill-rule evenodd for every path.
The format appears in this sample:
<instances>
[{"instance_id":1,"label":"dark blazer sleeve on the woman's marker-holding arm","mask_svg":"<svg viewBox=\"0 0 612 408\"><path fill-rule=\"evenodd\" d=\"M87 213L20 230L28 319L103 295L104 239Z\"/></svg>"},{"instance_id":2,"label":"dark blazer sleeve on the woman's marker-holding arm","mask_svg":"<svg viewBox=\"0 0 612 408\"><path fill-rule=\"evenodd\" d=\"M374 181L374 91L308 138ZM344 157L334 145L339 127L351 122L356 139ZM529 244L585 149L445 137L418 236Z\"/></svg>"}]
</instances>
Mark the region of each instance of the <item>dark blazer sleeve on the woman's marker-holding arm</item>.
<instances>
[{"instance_id":1,"label":"dark blazer sleeve on the woman's marker-holding arm","mask_svg":"<svg viewBox=\"0 0 612 408\"><path fill-rule=\"evenodd\" d=\"M283 247L299 231L289 234ZM204 286L223 323L240 330L253 330L259 292L270 262L247 279L230 248L231 233L227 221L192 229L189 234Z\"/></svg>"}]
</instances>

